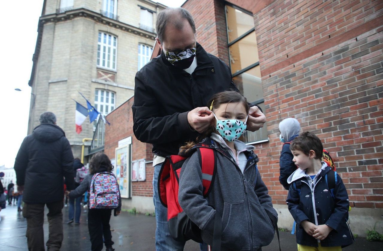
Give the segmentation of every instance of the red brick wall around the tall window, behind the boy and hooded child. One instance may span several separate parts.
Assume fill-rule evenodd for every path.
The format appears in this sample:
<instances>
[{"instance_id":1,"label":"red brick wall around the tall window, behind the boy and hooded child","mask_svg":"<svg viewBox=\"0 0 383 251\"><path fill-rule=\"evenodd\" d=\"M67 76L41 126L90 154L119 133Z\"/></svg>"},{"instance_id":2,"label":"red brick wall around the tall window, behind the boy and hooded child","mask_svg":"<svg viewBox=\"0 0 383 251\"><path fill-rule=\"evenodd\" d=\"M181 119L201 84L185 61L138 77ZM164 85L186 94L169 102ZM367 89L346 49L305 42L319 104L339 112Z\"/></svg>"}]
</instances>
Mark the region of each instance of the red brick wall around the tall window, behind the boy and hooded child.
<instances>
[{"instance_id":1,"label":"red brick wall around the tall window, behind the boy and hooded child","mask_svg":"<svg viewBox=\"0 0 383 251\"><path fill-rule=\"evenodd\" d=\"M228 0L254 14L268 143L255 145L274 204L278 124L295 117L336 161L352 207L383 208L383 3L379 0ZM224 2L188 0L197 41L228 62ZM223 19L222 19L223 18Z\"/></svg>"}]
</instances>

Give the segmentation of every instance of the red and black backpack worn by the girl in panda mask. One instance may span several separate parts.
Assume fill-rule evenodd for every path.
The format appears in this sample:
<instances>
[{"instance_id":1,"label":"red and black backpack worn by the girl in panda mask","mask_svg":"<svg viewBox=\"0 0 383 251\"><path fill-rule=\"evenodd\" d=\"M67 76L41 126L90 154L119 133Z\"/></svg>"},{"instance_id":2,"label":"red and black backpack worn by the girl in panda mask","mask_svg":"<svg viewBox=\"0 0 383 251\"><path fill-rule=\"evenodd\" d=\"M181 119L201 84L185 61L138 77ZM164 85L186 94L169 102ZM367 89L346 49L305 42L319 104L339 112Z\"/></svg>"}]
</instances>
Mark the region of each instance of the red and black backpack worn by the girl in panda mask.
<instances>
[{"instance_id":1,"label":"red and black backpack worn by the girl in panda mask","mask_svg":"<svg viewBox=\"0 0 383 251\"><path fill-rule=\"evenodd\" d=\"M197 148L202 168L203 196L208 196L214 176L216 173L216 153L211 148ZM201 230L185 214L178 203L178 184L183 162L187 157L180 155L170 155L165 162L158 176L159 198L167 207L169 232L174 240L187 241L194 240L202 243Z\"/></svg>"}]
</instances>

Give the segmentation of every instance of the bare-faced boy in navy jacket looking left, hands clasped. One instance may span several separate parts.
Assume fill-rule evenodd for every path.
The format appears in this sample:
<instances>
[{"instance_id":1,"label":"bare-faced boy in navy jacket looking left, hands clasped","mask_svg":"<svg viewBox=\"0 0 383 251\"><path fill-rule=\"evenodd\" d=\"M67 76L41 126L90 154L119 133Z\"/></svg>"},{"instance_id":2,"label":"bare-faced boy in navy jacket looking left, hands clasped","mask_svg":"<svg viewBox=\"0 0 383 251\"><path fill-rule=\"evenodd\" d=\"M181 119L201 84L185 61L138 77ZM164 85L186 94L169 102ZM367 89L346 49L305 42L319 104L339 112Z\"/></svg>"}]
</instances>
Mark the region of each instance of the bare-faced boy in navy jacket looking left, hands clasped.
<instances>
[{"instance_id":1,"label":"bare-faced boy in navy jacket looking left, hands clasped","mask_svg":"<svg viewBox=\"0 0 383 251\"><path fill-rule=\"evenodd\" d=\"M341 251L354 240L347 224L349 197L342 179L321 162L323 146L314 133L300 134L290 150L298 169L288 178L286 202L297 224L298 251ZM336 175L334 197L326 182L328 175Z\"/></svg>"}]
</instances>

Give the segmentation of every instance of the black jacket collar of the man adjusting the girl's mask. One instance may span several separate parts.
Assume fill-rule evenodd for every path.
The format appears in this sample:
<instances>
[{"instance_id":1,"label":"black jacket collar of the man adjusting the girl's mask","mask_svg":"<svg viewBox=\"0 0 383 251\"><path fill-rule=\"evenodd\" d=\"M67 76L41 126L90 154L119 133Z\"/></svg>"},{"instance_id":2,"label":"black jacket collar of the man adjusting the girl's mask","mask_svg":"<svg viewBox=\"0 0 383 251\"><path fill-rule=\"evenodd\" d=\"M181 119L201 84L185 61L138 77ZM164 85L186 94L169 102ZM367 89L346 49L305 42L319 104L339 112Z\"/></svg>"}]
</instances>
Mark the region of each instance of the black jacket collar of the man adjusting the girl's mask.
<instances>
[{"instance_id":1,"label":"black jacket collar of the man adjusting the girl's mask","mask_svg":"<svg viewBox=\"0 0 383 251\"><path fill-rule=\"evenodd\" d=\"M207 74L214 74L214 65L213 61L209 57L209 54L203 49L203 47L196 43L196 59L197 59L197 67L195 68L195 72L208 68L208 71L199 71L198 75L207 75ZM169 61L167 61L164 52L161 50L160 54L162 62L169 68L170 72L172 74L182 74L186 73L186 71L179 69L177 67L174 67ZM212 71L213 70L213 71Z\"/></svg>"}]
</instances>

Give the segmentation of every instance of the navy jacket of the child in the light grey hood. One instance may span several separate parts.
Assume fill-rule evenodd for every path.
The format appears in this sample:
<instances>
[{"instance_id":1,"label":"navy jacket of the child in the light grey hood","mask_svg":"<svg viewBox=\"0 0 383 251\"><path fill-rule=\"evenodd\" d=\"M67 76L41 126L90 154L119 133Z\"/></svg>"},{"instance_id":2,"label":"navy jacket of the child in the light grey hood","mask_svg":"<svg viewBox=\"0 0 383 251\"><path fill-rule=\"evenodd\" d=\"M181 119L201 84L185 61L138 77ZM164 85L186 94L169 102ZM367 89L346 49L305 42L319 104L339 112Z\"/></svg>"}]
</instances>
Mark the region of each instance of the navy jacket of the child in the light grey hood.
<instances>
[{"instance_id":1,"label":"navy jacket of the child in the light grey hood","mask_svg":"<svg viewBox=\"0 0 383 251\"><path fill-rule=\"evenodd\" d=\"M282 146L281 156L279 157L279 182L288 190L290 184L287 183L287 178L296 170L296 165L293 162L293 154L290 151L290 144Z\"/></svg>"}]
</instances>

